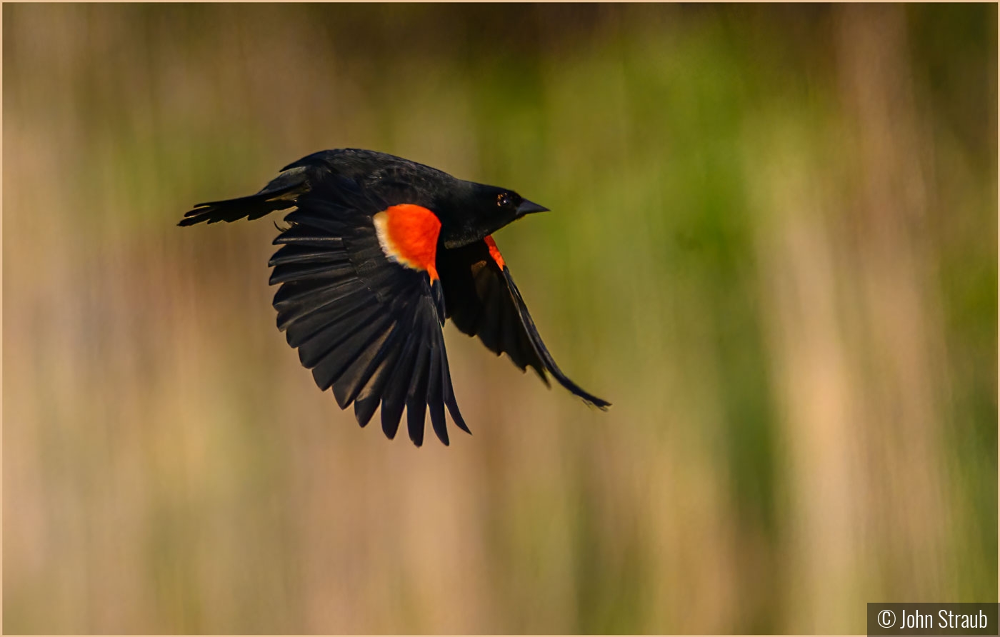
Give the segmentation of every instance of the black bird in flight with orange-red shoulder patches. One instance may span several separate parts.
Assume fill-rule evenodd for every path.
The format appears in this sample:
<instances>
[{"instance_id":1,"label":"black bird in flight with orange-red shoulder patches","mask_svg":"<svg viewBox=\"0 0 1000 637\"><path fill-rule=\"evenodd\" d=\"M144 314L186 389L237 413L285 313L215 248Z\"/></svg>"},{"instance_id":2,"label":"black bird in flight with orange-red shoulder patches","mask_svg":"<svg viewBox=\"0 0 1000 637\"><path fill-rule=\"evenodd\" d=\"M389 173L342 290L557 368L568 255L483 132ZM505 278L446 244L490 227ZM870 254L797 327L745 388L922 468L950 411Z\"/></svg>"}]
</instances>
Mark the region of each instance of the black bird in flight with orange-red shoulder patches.
<instances>
[{"instance_id":1,"label":"black bird in flight with orange-red shoulder patches","mask_svg":"<svg viewBox=\"0 0 1000 637\"><path fill-rule=\"evenodd\" d=\"M278 329L320 389L364 427L382 405L393 438L406 407L410 439L424 414L448 444L444 408L469 432L451 385L441 328L446 318L522 371L546 372L586 402L556 365L490 236L548 210L513 190L456 179L370 150L326 150L282 169L249 197L197 204L179 225L257 219L287 208L274 240L271 285ZM280 228L279 228L280 229Z\"/></svg>"}]
</instances>

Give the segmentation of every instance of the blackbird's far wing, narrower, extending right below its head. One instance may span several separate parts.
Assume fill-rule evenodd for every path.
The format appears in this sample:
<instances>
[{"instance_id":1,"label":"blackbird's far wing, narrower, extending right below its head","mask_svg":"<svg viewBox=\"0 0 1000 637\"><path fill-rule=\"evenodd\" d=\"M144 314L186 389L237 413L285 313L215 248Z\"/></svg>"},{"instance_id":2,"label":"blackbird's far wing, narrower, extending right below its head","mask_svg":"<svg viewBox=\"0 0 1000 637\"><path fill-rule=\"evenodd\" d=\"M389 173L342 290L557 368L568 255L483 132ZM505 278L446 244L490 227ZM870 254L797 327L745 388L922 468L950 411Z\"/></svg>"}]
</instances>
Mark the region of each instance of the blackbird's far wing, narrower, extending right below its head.
<instances>
[{"instance_id":1,"label":"blackbird's far wing, narrower, extending right below its head","mask_svg":"<svg viewBox=\"0 0 1000 637\"><path fill-rule=\"evenodd\" d=\"M478 336L498 356L506 352L522 371L531 367L546 385L548 372L586 402L601 409L611 404L584 391L556 365L492 237L442 250L437 268L444 283L447 317L455 327Z\"/></svg>"}]
</instances>

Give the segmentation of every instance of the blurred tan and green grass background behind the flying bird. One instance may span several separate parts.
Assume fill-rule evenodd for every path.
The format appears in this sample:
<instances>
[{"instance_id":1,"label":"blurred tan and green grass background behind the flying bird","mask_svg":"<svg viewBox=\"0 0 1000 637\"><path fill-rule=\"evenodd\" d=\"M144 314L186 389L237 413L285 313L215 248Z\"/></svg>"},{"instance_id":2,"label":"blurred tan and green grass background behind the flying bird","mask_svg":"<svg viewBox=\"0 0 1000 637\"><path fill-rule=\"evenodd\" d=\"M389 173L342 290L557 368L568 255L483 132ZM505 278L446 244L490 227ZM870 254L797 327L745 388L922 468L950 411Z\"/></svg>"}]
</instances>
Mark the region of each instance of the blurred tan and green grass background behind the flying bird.
<instances>
[{"instance_id":1,"label":"blurred tan and green grass background behind the flying bird","mask_svg":"<svg viewBox=\"0 0 1000 637\"><path fill-rule=\"evenodd\" d=\"M996 5L3 7L7 633L864 632L997 599ZM274 327L307 153L497 241L608 413L446 330L473 437Z\"/></svg>"}]
</instances>

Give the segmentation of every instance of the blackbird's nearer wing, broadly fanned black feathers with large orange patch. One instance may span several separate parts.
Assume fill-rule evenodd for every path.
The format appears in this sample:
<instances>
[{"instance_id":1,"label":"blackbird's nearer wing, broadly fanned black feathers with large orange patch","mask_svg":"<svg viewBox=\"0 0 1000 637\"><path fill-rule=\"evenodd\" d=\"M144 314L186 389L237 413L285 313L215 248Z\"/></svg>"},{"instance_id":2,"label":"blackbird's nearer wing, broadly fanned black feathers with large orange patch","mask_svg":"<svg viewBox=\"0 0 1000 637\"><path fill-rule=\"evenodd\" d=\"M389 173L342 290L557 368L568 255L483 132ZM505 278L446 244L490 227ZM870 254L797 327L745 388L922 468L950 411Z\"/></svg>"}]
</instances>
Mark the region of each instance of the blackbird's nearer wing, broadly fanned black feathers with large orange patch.
<instances>
[{"instance_id":1,"label":"blackbird's nearer wing, broadly fanned black feathers with large orange patch","mask_svg":"<svg viewBox=\"0 0 1000 637\"><path fill-rule=\"evenodd\" d=\"M353 180L336 176L300 195L297 206L285 216L289 228L274 241L282 247L270 261L271 284L281 285L274 296L278 329L298 349L316 384L331 388L342 409L353 403L362 427L381 405L382 430L389 438L396 435L404 406L417 446L423 443L428 409L444 444L446 406L468 432L448 371L444 299L433 252L430 261L393 253L392 235L378 227L386 211L396 226L432 213L387 206ZM432 247L436 239L435 230Z\"/></svg>"}]
</instances>

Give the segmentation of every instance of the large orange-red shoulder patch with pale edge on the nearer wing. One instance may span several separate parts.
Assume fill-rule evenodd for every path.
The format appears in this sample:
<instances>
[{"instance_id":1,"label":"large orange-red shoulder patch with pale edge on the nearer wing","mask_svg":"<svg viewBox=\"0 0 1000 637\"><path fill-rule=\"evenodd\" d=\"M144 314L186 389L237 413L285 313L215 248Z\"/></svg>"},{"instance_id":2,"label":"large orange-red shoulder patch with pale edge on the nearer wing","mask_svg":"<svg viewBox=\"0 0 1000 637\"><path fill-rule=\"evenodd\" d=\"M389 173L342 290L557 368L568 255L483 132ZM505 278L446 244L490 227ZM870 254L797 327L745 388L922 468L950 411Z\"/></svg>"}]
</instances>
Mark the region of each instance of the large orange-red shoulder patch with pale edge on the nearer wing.
<instances>
[{"instance_id":1,"label":"large orange-red shoulder patch with pale edge on the nearer wing","mask_svg":"<svg viewBox=\"0 0 1000 637\"><path fill-rule=\"evenodd\" d=\"M414 270L427 272L431 280L438 278L435 259L441 220L433 212L414 204L389 206L377 213L372 221L379 245L385 255Z\"/></svg>"}]
</instances>

